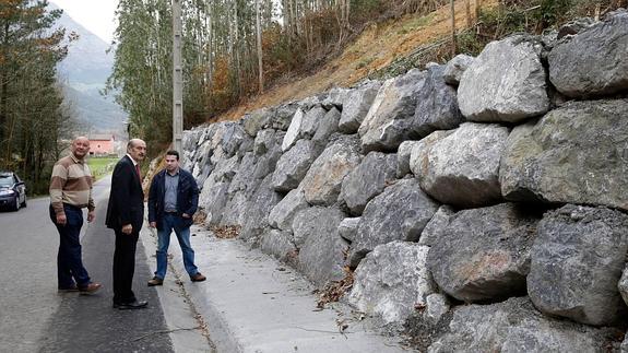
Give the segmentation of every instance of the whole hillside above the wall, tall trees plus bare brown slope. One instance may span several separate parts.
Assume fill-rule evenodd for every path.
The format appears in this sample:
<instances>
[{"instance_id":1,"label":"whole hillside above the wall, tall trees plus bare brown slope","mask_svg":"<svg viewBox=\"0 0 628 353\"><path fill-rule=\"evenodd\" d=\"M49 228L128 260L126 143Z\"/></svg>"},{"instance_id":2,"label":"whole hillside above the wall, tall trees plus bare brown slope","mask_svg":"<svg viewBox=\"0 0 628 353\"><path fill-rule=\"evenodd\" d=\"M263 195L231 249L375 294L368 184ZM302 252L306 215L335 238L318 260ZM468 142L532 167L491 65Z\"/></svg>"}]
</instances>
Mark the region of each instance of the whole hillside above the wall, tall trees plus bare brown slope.
<instances>
[{"instance_id":1,"label":"whole hillside above the wall, tall trees plus bare brown slope","mask_svg":"<svg viewBox=\"0 0 628 353\"><path fill-rule=\"evenodd\" d=\"M528 31L542 33L620 5L591 0L183 0L185 128L402 73ZM452 11L452 8L454 9ZM451 17L455 17L455 39ZM134 136L167 144L171 126L171 9L123 0L108 89ZM452 43L454 42L454 43Z\"/></svg>"}]
</instances>

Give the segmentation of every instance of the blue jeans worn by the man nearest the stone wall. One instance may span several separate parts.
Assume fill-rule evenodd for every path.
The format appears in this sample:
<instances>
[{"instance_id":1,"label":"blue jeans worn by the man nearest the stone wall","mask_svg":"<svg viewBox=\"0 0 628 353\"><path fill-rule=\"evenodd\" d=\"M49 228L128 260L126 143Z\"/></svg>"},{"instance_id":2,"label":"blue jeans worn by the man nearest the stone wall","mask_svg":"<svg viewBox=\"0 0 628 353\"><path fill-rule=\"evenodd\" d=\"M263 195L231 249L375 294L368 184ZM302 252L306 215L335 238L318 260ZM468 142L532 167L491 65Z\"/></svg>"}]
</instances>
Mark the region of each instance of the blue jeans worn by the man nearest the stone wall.
<instances>
[{"instance_id":1,"label":"blue jeans worn by the man nearest the stone wall","mask_svg":"<svg viewBox=\"0 0 628 353\"><path fill-rule=\"evenodd\" d=\"M183 266L190 276L199 273L194 266L194 250L190 245L190 227L181 226L181 217L173 213L166 213L162 220L161 231L157 231L157 271L155 276L164 279L168 267L168 246L170 245L170 234L173 230L177 235L181 252L183 254Z\"/></svg>"}]
</instances>

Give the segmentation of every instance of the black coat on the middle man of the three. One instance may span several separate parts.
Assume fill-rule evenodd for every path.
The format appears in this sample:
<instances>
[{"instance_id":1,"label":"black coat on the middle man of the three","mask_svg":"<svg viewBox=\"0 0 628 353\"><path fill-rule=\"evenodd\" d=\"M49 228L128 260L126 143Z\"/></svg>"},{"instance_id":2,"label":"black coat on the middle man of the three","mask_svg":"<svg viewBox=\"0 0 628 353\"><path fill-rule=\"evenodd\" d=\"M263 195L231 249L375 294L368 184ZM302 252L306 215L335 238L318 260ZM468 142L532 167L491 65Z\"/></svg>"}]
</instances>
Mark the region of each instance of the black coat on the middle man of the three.
<instances>
[{"instance_id":1,"label":"black coat on the middle man of the three","mask_svg":"<svg viewBox=\"0 0 628 353\"><path fill-rule=\"evenodd\" d=\"M114 230L131 224L133 232L139 232L142 223L144 223L144 190L133 161L126 155L114 168L105 224Z\"/></svg>"}]
</instances>

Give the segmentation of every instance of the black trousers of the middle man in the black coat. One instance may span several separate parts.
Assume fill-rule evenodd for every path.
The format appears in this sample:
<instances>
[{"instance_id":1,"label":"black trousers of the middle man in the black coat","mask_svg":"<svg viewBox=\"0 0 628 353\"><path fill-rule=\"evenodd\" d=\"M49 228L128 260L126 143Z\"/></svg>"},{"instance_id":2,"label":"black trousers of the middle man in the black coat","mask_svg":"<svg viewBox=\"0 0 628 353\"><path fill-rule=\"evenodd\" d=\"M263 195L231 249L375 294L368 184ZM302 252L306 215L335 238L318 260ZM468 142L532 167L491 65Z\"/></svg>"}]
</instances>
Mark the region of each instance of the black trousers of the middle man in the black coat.
<instances>
[{"instance_id":1,"label":"black trousers of the middle man in the black coat","mask_svg":"<svg viewBox=\"0 0 628 353\"><path fill-rule=\"evenodd\" d=\"M126 304L135 301L131 290L135 272L135 248L140 230L125 234L116 230L116 250L114 251L114 303Z\"/></svg>"}]
</instances>

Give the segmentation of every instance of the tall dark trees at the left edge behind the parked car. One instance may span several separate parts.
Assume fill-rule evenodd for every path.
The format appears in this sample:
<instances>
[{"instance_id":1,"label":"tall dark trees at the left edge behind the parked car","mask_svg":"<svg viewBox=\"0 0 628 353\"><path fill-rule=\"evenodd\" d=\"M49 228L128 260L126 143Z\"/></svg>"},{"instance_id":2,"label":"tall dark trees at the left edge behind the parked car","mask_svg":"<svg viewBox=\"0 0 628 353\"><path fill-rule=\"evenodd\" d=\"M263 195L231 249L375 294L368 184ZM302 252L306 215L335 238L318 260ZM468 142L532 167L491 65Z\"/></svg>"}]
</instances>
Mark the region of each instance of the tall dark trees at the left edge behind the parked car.
<instances>
[{"instance_id":1,"label":"tall dark trees at the left edge behind the parked car","mask_svg":"<svg viewBox=\"0 0 628 353\"><path fill-rule=\"evenodd\" d=\"M27 180L29 192L46 189L49 161L69 128L57 64L73 40L46 1L0 1L0 169Z\"/></svg>"}]
</instances>

